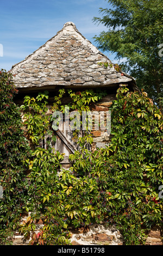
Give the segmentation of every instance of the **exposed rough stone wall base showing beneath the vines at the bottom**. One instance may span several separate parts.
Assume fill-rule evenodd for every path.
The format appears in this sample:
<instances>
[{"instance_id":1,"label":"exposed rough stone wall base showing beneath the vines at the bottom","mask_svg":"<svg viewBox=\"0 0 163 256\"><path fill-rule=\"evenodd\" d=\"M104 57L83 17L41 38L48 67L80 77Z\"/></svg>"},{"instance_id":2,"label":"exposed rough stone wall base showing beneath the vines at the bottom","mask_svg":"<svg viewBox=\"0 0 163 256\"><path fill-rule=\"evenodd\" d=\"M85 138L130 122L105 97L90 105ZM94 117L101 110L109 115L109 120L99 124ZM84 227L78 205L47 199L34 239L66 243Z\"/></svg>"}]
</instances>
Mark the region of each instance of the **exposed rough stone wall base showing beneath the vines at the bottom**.
<instances>
[{"instance_id":1,"label":"exposed rough stone wall base showing beneath the vines at the bottom","mask_svg":"<svg viewBox=\"0 0 163 256\"><path fill-rule=\"evenodd\" d=\"M36 224L35 233L39 233L42 229L43 223L40 220ZM105 224L93 224L90 227L70 228L71 244L76 245L125 245L122 234L116 229L114 225L106 227ZM14 233L12 238L13 245L28 245L24 237L17 232ZM161 238L161 231L157 227L153 227L149 231L145 245L163 245Z\"/></svg>"}]
</instances>

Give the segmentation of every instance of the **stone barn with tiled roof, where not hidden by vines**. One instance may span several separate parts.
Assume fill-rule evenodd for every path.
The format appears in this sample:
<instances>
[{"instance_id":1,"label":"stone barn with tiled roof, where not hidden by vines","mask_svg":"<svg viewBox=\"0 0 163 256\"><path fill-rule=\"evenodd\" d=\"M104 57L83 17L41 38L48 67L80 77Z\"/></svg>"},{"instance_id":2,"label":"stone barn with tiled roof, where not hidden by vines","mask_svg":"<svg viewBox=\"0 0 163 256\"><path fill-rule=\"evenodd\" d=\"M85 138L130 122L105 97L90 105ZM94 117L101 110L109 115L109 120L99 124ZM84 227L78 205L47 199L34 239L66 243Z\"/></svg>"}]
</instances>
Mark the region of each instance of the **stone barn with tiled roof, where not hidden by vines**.
<instances>
[{"instance_id":1,"label":"stone barn with tiled roof, where not hidden by vines","mask_svg":"<svg viewBox=\"0 0 163 256\"><path fill-rule=\"evenodd\" d=\"M99 63L108 63L108 68ZM91 111L108 111L116 91L121 86L136 89L133 77L117 70L102 52L91 44L76 28L73 22L64 27L22 62L12 66L13 80L19 90L17 103L23 103L25 95L36 95L48 90L49 109L54 96L60 88L72 88L74 91L103 88L107 95L101 102L91 106ZM63 103L70 101L64 97ZM92 149L102 148L109 138L105 131L92 129ZM74 152L72 132L61 128L57 131L54 148L65 154L63 168L69 168L68 156Z\"/></svg>"}]
</instances>

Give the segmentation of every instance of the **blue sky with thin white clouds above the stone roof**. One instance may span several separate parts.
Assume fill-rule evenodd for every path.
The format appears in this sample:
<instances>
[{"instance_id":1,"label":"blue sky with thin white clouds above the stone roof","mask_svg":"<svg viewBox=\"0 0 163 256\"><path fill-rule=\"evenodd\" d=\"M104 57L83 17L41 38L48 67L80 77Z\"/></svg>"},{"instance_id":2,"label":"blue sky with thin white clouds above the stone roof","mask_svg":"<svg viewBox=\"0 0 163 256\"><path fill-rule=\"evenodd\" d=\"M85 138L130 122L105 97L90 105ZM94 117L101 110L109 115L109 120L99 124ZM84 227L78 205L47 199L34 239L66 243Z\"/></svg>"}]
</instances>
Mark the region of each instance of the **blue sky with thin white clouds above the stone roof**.
<instances>
[{"instance_id":1,"label":"blue sky with thin white clouds above the stone roof","mask_svg":"<svg viewBox=\"0 0 163 256\"><path fill-rule=\"evenodd\" d=\"M93 36L106 28L92 22L99 8L108 8L105 0L0 0L0 69L11 66L33 53L57 34L68 21L96 45ZM97 45L96 45L97 46ZM109 53L105 54L114 60Z\"/></svg>"}]
</instances>

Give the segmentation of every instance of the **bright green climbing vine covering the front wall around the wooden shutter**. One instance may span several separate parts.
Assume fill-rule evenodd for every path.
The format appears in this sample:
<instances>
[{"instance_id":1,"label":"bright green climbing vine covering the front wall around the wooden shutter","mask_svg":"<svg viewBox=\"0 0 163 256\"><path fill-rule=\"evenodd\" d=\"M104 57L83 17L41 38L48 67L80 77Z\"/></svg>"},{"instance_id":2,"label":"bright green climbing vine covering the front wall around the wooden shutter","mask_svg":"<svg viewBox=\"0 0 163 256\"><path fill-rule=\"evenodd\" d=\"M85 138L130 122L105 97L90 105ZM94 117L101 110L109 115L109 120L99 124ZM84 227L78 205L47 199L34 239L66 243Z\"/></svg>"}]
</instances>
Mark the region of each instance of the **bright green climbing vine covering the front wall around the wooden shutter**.
<instances>
[{"instance_id":1,"label":"bright green climbing vine covering the front wall around the wooden shutter","mask_svg":"<svg viewBox=\"0 0 163 256\"><path fill-rule=\"evenodd\" d=\"M61 89L54 98L52 113L64 113L65 95L71 99L66 106L82 112L105 93ZM91 152L85 141L92 143L92 138L85 131L78 140L80 149L70 155L70 170L61 169L64 155L53 148L56 138L51 129L53 114L47 108L48 92L24 98L24 125L34 148L24 159L30 170L24 209L30 216L20 231L27 239L32 236L31 245L68 245L68 227L93 223L115 225L127 245L141 245L153 225L162 227L162 114L143 91L129 92L122 87L116 98L111 107L109 145ZM49 142L42 148L40 141L47 135ZM76 139L77 135L78 131L74 131ZM44 225L37 233L39 220Z\"/></svg>"}]
</instances>

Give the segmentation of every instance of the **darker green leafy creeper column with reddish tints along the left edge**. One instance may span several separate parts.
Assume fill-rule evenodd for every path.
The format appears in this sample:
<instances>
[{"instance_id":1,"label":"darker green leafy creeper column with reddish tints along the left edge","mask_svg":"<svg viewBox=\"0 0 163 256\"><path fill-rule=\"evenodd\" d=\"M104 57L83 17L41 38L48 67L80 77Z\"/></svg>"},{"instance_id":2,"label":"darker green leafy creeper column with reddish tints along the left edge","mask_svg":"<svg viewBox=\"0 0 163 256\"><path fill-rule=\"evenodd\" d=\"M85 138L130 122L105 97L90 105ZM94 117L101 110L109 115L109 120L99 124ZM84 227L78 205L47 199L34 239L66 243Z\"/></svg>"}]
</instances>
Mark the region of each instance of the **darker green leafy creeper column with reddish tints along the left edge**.
<instances>
[{"instance_id":1,"label":"darker green leafy creeper column with reddish tints along the left edge","mask_svg":"<svg viewBox=\"0 0 163 256\"><path fill-rule=\"evenodd\" d=\"M17 90L12 76L0 71L0 237L2 244L9 244L9 237L21 221L27 203L28 164L25 162L29 147L23 136L20 109L13 102Z\"/></svg>"}]
</instances>

